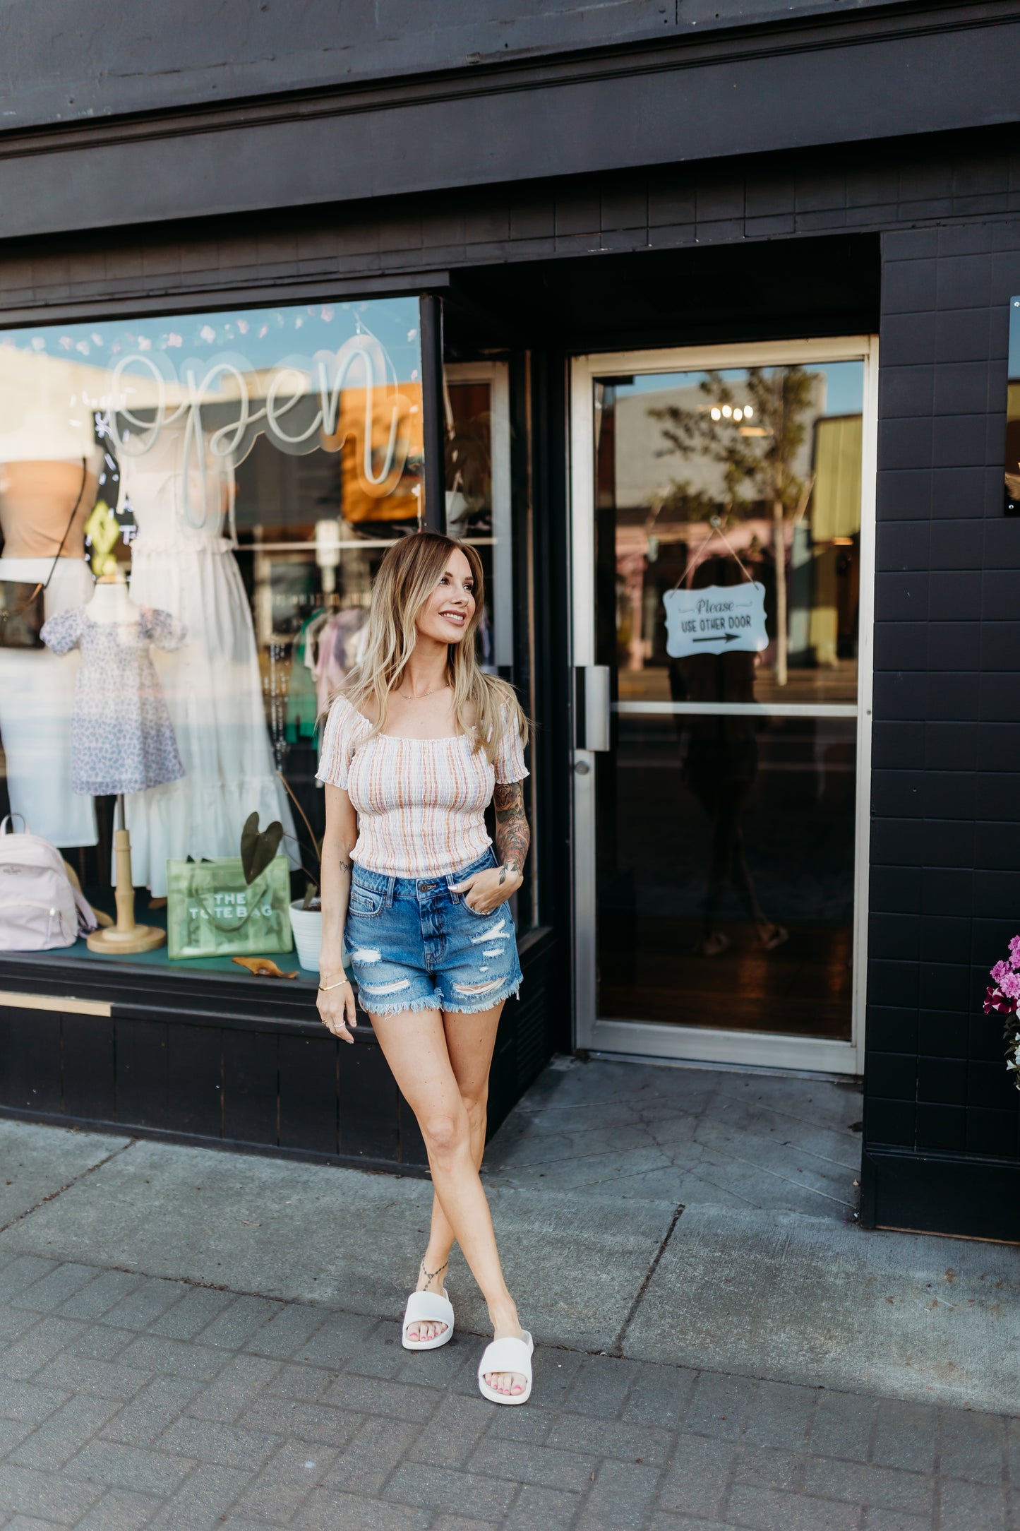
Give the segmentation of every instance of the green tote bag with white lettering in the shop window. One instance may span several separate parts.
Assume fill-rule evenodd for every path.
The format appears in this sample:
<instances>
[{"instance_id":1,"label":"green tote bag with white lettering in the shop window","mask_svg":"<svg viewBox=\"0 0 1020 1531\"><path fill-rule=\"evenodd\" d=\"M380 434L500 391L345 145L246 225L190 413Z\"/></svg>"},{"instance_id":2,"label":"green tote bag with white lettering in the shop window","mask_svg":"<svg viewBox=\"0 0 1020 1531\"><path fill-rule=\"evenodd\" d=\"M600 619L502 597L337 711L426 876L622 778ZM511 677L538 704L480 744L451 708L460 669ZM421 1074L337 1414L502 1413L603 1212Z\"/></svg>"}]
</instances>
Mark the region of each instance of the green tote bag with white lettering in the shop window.
<instances>
[{"instance_id":1,"label":"green tote bag with white lettering in the shop window","mask_svg":"<svg viewBox=\"0 0 1020 1531\"><path fill-rule=\"evenodd\" d=\"M167 951L177 957L289 952L291 868L286 856L245 882L240 856L167 862Z\"/></svg>"}]
</instances>

